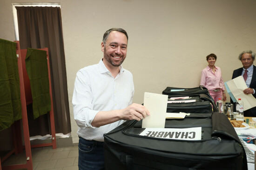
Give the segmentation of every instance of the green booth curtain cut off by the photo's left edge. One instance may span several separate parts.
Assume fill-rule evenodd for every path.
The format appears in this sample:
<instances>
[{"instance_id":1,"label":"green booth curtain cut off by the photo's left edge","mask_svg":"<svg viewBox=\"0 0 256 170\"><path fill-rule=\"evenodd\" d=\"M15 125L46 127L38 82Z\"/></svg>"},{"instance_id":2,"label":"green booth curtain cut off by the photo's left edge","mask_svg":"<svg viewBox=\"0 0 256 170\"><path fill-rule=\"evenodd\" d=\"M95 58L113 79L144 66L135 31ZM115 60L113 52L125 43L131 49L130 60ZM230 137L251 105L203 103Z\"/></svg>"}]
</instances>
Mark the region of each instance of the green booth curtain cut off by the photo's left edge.
<instances>
[{"instance_id":1,"label":"green booth curtain cut off by the photo's left edge","mask_svg":"<svg viewBox=\"0 0 256 170\"><path fill-rule=\"evenodd\" d=\"M16 43L0 39L0 131L21 118Z\"/></svg>"}]
</instances>

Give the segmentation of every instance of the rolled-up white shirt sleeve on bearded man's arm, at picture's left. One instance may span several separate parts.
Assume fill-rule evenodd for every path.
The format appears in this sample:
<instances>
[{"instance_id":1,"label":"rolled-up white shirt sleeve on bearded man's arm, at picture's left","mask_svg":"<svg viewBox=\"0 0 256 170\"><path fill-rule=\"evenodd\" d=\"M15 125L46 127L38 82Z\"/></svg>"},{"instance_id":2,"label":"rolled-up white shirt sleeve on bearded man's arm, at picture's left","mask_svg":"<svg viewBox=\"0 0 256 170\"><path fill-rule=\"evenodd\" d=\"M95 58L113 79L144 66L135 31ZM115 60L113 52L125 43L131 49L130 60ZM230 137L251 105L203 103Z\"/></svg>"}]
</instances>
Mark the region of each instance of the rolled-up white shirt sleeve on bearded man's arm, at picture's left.
<instances>
[{"instance_id":1,"label":"rolled-up white shirt sleeve on bearded man's arm, at picture's left","mask_svg":"<svg viewBox=\"0 0 256 170\"><path fill-rule=\"evenodd\" d=\"M99 111L93 110L93 95L88 73L82 73L81 71L77 72L74 82L72 103L74 120L76 121L77 126L81 128L95 128L94 126L91 126L91 123Z\"/></svg>"}]
</instances>

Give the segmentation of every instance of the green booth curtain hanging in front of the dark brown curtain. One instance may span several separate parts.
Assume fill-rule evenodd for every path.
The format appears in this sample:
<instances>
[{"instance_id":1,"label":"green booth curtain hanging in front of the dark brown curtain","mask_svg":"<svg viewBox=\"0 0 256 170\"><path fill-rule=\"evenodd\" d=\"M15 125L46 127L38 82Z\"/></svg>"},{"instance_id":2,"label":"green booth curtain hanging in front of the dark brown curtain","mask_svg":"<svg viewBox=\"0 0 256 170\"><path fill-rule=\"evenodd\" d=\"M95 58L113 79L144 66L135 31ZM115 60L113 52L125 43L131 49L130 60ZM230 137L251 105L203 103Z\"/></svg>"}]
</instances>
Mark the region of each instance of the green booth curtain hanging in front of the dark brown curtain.
<instances>
[{"instance_id":1,"label":"green booth curtain hanging in front of the dark brown curtain","mask_svg":"<svg viewBox=\"0 0 256 170\"><path fill-rule=\"evenodd\" d=\"M26 69L30 80L34 119L51 110L47 53L45 50L28 48Z\"/></svg>"}]
</instances>

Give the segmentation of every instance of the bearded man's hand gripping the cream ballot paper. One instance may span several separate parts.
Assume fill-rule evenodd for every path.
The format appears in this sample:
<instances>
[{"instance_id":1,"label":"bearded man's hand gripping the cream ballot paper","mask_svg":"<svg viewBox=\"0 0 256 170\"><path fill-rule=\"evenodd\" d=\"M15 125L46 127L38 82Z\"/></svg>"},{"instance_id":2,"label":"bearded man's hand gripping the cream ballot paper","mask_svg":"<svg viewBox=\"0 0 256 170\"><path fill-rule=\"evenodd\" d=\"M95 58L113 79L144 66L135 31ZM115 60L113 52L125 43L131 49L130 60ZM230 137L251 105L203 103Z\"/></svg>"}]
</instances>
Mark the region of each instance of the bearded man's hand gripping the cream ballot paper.
<instances>
[{"instance_id":1,"label":"bearded man's hand gripping the cream ballot paper","mask_svg":"<svg viewBox=\"0 0 256 170\"><path fill-rule=\"evenodd\" d=\"M121 120L142 120L149 116L148 109L140 104L133 103L130 106L122 109Z\"/></svg>"}]
</instances>

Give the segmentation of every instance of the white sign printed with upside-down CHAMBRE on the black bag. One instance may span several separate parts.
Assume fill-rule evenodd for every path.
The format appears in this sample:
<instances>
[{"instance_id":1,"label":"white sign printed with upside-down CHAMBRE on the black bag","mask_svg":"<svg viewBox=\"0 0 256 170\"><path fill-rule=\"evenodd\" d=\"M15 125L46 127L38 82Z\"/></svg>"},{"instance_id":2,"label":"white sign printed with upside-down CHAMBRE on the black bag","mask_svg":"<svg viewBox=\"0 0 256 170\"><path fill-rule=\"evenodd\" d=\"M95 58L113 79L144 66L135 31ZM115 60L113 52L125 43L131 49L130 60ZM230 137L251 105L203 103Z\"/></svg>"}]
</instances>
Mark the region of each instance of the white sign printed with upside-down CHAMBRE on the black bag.
<instances>
[{"instance_id":1,"label":"white sign printed with upside-down CHAMBRE on the black bag","mask_svg":"<svg viewBox=\"0 0 256 170\"><path fill-rule=\"evenodd\" d=\"M201 140L202 127L191 128L146 128L141 136L176 140Z\"/></svg>"}]
</instances>

